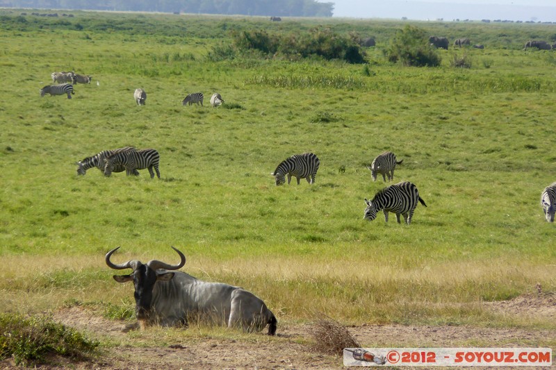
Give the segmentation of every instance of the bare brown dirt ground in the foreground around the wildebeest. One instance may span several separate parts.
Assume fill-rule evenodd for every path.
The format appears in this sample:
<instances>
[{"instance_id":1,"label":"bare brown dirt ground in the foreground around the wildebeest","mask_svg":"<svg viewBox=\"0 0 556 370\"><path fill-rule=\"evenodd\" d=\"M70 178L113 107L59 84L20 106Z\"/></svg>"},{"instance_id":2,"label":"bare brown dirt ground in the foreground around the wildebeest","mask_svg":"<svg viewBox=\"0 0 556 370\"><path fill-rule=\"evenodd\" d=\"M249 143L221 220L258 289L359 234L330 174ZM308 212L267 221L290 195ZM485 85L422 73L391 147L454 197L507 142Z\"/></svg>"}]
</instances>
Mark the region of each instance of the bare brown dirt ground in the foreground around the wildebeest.
<instances>
[{"instance_id":1,"label":"bare brown dirt ground in the foreground around the wildebeest","mask_svg":"<svg viewBox=\"0 0 556 370\"><path fill-rule=\"evenodd\" d=\"M485 303L493 312L554 318L554 294L531 294L512 301ZM126 339L122 324L104 319L81 307L65 308L54 313L54 319L83 330L92 337L118 343ZM279 325L276 340L263 333L254 334L248 342L236 339L186 339L164 346L116 345L103 348L103 354L90 362L58 359L58 367L74 369L341 369L342 358L315 350L311 323ZM470 326L403 326L362 325L347 328L362 346L543 346L554 342L553 330L516 328L474 328ZM145 332L148 335L148 330ZM129 343L130 341L122 341ZM544 345L546 346L546 345ZM0 368L13 367L4 360ZM42 366L51 369L56 366ZM424 369L421 367L421 369ZM453 369L453 368L452 368ZM500 368L498 368L500 369ZM537 368L539 369L539 368Z\"/></svg>"}]
</instances>

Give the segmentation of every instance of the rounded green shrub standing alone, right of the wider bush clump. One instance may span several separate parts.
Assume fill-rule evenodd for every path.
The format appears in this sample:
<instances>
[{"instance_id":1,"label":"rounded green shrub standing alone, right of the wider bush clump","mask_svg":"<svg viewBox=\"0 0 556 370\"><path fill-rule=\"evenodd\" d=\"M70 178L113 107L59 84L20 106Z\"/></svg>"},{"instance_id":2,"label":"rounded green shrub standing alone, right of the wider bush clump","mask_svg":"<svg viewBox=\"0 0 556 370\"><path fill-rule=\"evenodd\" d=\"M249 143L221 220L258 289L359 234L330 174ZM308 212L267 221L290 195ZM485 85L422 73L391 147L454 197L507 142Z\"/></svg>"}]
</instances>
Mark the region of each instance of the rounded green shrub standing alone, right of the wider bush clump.
<instances>
[{"instance_id":1,"label":"rounded green shrub standing alone, right of the wider bush clump","mask_svg":"<svg viewBox=\"0 0 556 370\"><path fill-rule=\"evenodd\" d=\"M391 62L414 67L437 67L441 62L438 51L431 47L425 31L410 25L395 33L386 55Z\"/></svg>"}]
</instances>

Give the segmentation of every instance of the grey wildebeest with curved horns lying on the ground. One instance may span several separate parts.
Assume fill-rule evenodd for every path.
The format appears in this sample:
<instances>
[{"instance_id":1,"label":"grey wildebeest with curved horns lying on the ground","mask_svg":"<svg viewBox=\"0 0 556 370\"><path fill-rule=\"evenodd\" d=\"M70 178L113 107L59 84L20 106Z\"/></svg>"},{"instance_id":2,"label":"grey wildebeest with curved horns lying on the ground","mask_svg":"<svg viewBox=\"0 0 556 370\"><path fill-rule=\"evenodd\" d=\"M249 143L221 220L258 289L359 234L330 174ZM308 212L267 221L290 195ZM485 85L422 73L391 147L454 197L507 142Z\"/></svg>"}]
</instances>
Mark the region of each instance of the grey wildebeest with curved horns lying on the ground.
<instances>
[{"instance_id":1,"label":"grey wildebeest with curved horns lying on the ground","mask_svg":"<svg viewBox=\"0 0 556 370\"><path fill-rule=\"evenodd\" d=\"M187 325L188 317L197 315L247 332L259 331L268 325L268 335L275 335L277 319L261 298L234 285L208 283L175 271L186 264L186 256L173 246L181 258L176 265L158 260L146 264L139 260L115 264L111 262L111 255L119 248L106 253L105 261L111 269L133 271L113 278L118 283L133 282L136 328L154 324L183 326Z\"/></svg>"}]
</instances>

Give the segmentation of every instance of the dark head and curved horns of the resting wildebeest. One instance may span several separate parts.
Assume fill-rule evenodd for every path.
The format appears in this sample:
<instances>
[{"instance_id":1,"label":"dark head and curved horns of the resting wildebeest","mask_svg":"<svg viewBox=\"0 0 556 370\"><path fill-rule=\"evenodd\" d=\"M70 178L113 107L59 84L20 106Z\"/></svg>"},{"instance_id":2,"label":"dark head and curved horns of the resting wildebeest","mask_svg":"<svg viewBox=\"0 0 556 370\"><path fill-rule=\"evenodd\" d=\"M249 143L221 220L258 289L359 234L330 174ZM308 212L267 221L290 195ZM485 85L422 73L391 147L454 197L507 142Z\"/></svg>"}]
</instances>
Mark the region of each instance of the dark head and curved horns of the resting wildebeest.
<instances>
[{"instance_id":1,"label":"dark head and curved horns of the resting wildebeest","mask_svg":"<svg viewBox=\"0 0 556 370\"><path fill-rule=\"evenodd\" d=\"M122 270L122 269L132 269L132 273L129 275L114 275L113 278L118 283L126 283L128 281L133 281L133 286L135 287L136 301L136 317L139 321L148 321L151 314L152 308L152 292L154 285L157 281L169 281L174 278L173 272L167 271L157 271L157 269L166 270L177 270L186 264L186 256L180 251L172 246L172 249L179 254L181 261L179 264L172 265L158 260L151 260L146 264L142 264L139 260L129 260L121 264L114 264L111 262L111 255L117 251L120 247L109 251L106 253L106 264L111 269Z\"/></svg>"}]
</instances>

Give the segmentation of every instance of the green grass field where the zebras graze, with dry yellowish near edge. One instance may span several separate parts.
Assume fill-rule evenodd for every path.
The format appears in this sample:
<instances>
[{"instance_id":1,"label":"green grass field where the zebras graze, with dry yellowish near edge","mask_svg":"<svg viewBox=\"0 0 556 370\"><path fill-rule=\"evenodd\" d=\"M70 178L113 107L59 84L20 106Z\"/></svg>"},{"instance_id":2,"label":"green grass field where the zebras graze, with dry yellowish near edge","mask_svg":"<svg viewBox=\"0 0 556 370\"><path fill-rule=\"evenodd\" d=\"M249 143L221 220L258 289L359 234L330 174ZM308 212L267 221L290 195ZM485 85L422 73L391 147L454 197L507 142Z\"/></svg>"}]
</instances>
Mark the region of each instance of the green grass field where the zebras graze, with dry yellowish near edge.
<instances>
[{"instance_id":1,"label":"green grass field where the zebras graze, with dry yellowish near edge","mask_svg":"<svg viewBox=\"0 0 556 370\"><path fill-rule=\"evenodd\" d=\"M556 180L556 52L521 50L550 40L550 26L416 22L485 45L440 51L441 67L428 69L386 61L401 22L74 14L0 12L5 312L76 301L126 310L132 287L113 281L104 254L122 246L116 262L174 262L175 246L183 271L250 289L279 321L323 312L343 323L556 328L481 305L537 283L556 289L555 226L539 202ZM318 24L377 37L368 65L208 58L233 29ZM463 53L471 69L450 67ZM41 98L62 70L92 83L71 100ZM204 107L181 106L191 92L204 92ZM209 106L213 92L224 106ZM159 151L161 180L76 175L76 161L128 145ZM366 165L385 150L404 160L395 182L415 183L428 205L410 226L363 220L363 198L386 185ZM320 158L316 184L276 187L279 162L306 151Z\"/></svg>"}]
</instances>

